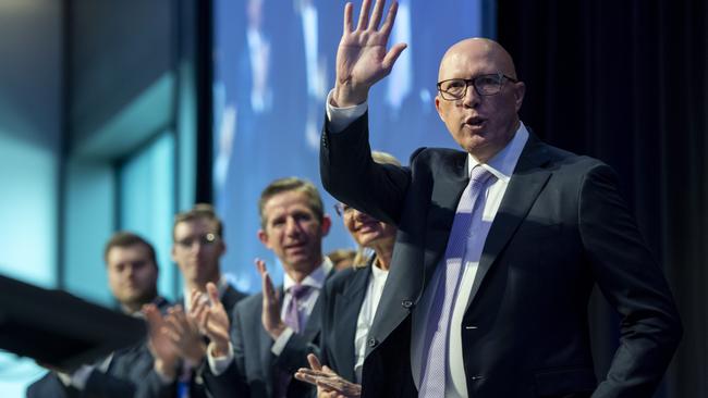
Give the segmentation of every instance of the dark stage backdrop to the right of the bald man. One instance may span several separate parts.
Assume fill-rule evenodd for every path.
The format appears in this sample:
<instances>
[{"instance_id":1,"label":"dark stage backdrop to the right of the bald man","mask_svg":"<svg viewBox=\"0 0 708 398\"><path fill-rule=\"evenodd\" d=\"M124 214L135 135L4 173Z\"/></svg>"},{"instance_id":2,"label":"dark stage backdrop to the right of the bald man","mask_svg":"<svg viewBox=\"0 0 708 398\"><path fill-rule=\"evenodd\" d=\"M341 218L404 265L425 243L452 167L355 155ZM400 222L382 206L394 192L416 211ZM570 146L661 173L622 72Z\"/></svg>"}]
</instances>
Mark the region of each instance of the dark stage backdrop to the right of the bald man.
<instances>
[{"instance_id":1,"label":"dark stage backdrop to the right of the bald man","mask_svg":"<svg viewBox=\"0 0 708 398\"><path fill-rule=\"evenodd\" d=\"M708 48L705 0L501 0L498 39L542 139L620 174L685 332L657 397L708 397ZM618 319L593 304L599 375Z\"/></svg>"}]
</instances>

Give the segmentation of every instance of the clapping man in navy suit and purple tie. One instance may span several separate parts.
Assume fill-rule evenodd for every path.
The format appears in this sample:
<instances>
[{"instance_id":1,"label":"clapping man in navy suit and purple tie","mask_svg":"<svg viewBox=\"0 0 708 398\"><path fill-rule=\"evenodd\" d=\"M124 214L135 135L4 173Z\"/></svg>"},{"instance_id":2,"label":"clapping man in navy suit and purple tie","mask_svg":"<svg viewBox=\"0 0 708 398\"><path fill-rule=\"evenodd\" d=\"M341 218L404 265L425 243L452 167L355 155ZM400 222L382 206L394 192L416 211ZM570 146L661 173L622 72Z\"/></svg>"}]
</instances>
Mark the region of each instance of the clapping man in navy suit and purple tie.
<instances>
[{"instance_id":1,"label":"clapping man in navy suit and purple tie","mask_svg":"<svg viewBox=\"0 0 708 398\"><path fill-rule=\"evenodd\" d=\"M265 262L256 261L263 291L235 307L231 341L209 352L206 384L217 398L307 397L314 388L292 375L317 352L318 298L333 268L322 256L331 221L317 188L295 177L272 182L258 206L258 239L280 260L284 283L276 288Z\"/></svg>"}]
</instances>

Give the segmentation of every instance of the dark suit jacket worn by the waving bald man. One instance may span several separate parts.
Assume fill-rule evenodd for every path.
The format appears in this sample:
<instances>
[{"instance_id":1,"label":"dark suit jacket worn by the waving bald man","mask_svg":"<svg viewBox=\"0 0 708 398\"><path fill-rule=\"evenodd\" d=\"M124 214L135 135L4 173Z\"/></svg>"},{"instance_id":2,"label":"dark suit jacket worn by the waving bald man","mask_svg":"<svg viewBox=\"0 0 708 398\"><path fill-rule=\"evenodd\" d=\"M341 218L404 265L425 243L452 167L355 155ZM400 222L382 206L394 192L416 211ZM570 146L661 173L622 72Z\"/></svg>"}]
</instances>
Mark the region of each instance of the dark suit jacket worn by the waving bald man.
<instances>
[{"instance_id":1,"label":"dark suit jacket worn by the waving bald man","mask_svg":"<svg viewBox=\"0 0 708 398\"><path fill-rule=\"evenodd\" d=\"M371 161L367 115L321 138L325 188L399 227L369 332L364 397L412 397L411 312L444 253L467 184L467 153L420 149L410 167ZM621 344L599 385L587 303L597 284L621 314ZM681 338L661 269L613 171L529 136L485 242L462 334L469 396L649 397Z\"/></svg>"}]
</instances>

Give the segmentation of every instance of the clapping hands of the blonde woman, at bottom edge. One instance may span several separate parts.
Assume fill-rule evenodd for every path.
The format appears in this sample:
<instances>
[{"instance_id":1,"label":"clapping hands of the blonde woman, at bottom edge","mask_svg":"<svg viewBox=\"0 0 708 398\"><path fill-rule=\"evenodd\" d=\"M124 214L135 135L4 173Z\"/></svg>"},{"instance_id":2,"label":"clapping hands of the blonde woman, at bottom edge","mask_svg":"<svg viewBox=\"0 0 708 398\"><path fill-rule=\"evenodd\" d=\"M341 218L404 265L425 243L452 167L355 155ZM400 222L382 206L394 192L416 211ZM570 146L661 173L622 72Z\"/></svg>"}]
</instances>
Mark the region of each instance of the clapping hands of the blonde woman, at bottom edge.
<instances>
[{"instance_id":1,"label":"clapping hands of the blonde woman, at bottom edge","mask_svg":"<svg viewBox=\"0 0 708 398\"><path fill-rule=\"evenodd\" d=\"M317 386L317 398L358 398L362 386L351 383L334 373L328 366L322 366L319 359L310 353L307 356L309 368L301 368L295 378Z\"/></svg>"}]
</instances>

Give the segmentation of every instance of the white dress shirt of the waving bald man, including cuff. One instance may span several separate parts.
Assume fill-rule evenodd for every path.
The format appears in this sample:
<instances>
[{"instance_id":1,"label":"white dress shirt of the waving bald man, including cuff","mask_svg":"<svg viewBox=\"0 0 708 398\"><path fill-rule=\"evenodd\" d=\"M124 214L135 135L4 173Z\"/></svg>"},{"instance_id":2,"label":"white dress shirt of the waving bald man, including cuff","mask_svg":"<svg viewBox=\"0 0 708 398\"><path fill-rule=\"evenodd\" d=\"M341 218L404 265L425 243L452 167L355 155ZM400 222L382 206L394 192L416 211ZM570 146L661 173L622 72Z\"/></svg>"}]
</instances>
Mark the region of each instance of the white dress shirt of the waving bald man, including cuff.
<instances>
[{"instance_id":1,"label":"white dress shirt of the waving bald man, including cuff","mask_svg":"<svg viewBox=\"0 0 708 398\"><path fill-rule=\"evenodd\" d=\"M362 116L367 110L367 103L361 103L354 107L346 108L335 108L331 104L331 96L333 91L330 91L327 98L327 117L330 122L330 132L339 133L346 128L354 120ZM483 212L483 221L487 225L491 225L499 206L501 204L504 192L511 179L518 157L521 156L526 141L528 140L528 130L523 123L520 123L518 128L514 135L514 138L504 147L499 153L497 153L492 159L487 163L481 164L483 167L487 169L491 174L497 177L497 181L489 186L486 194L486 203ZM467 173L472 172L472 169L479 163L475 157L468 154L468 170ZM464 316L465 310L467 309L467 301L469 300L469 295L472 293L472 286L477 275L477 268L479 265L479 258L484 244L487 239L487 233L489 232L486 228L484 232L477 234L471 234L469 239L467 240L467 250L465 254L464 271L462 279L460 282L460 288L457 289L456 301L453 304L452 318L450 320L450 335L448 339L448 369L445 374L445 397L447 398L461 398L467 397L467 384L465 382L465 372L464 372L464 361L463 361L463 351L462 351L462 319ZM444 261L442 259L441 261ZM416 388L420 388L420 370L423 369L422 361L424 360L424 344L425 344L425 332L428 321L428 315L430 311L430 306L432 303L432 297L435 297L436 287L439 285L439 279L442 276L443 266L438 264L436 268L435 274L431 281L427 284L426 289L420 298L420 301L415 307L413 311L413 328L411 336L411 368L413 372L413 380L415 382ZM471 375L473 376L473 375Z\"/></svg>"}]
</instances>

